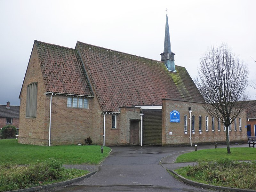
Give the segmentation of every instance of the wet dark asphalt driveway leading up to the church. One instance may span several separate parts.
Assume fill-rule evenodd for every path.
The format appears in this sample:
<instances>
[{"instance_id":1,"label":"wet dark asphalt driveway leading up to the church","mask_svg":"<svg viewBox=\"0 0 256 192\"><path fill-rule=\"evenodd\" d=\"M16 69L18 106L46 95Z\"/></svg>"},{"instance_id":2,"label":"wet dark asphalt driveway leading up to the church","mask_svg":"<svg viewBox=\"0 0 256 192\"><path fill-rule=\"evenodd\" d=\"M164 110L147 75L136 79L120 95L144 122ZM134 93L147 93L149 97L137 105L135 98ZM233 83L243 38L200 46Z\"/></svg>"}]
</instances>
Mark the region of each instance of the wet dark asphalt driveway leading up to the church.
<instances>
[{"instance_id":1,"label":"wet dark asphalt driveway leading up to the church","mask_svg":"<svg viewBox=\"0 0 256 192\"><path fill-rule=\"evenodd\" d=\"M225 147L225 145L218 147ZM234 145L234 147L240 146ZM51 191L215 192L215 190L185 184L175 179L165 169L172 168L173 161L180 153L193 151L194 147L111 148L110 155L100 164L97 173L77 183ZM214 148L214 145L197 146L198 150L201 148ZM163 166L159 164L161 160ZM175 166L179 167L179 164L175 164Z\"/></svg>"}]
</instances>

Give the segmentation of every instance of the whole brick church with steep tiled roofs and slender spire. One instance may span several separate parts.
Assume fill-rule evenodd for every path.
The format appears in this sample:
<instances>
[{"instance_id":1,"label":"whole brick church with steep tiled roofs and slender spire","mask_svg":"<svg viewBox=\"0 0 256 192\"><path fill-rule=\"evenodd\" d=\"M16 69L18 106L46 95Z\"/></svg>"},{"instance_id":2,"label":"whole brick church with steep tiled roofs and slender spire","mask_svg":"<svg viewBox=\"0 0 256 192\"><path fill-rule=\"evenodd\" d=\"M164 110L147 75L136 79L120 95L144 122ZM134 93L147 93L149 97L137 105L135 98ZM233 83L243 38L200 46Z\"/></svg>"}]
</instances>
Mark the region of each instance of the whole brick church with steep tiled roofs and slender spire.
<instances>
[{"instance_id":1,"label":"whole brick church with steep tiled roofs and slender spire","mask_svg":"<svg viewBox=\"0 0 256 192\"><path fill-rule=\"evenodd\" d=\"M246 113L225 130L174 64L168 17L161 61L77 41L34 42L20 91L19 143L194 145L247 140Z\"/></svg>"}]
</instances>

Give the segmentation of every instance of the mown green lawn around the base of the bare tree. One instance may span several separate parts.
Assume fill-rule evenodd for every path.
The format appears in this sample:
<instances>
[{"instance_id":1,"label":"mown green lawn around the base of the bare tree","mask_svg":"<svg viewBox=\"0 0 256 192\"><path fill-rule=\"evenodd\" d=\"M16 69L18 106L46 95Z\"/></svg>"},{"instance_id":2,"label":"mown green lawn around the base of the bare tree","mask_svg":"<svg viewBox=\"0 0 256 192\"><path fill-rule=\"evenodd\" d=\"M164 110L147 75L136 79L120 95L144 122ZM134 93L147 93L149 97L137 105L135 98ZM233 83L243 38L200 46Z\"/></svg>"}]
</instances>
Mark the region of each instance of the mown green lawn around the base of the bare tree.
<instances>
[{"instance_id":1,"label":"mown green lawn around the base of the bare tree","mask_svg":"<svg viewBox=\"0 0 256 192\"><path fill-rule=\"evenodd\" d=\"M231 154L227 153L227 148L217 149L201 149L178 156L175 163L181 162L198 162L214 161L220 158L228 158L230 160L256 160L256 148L231 148Z\"/></svg>"}]
</instances>

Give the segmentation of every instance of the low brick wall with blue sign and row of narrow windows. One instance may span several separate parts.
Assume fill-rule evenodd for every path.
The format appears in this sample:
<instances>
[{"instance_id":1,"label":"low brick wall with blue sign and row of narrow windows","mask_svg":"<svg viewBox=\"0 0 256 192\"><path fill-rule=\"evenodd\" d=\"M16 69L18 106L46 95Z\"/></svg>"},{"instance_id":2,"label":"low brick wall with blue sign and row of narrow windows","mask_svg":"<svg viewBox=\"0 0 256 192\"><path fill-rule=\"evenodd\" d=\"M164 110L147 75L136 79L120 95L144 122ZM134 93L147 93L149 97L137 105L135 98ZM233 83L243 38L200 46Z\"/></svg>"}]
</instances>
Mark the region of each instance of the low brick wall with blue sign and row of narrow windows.
<instances>
[{"instance_id":1,"label":"low brick wall with blue sign and row of narrow windows","mask_svg":"<svg viewBox=\"0 0 256 192\"><path fill-rule=\"evenodd\" d=\"M195 115L195 134L192 134L192 145L197 143L212 143L212 142L225 142L226 132L223 131L223 124L220 126L218 131L218 119L215 117L215 131L212 131L212 116L207 114L202 104L163 100L163 145L189 145L190 135L190 122L188 107L191 107L192 115ZM180 123L170 122L170 112L177 110L180 112ZM188 132L184 132L184 115L188 116ZM202 134L198 131L198 116L202 116ZM209 116L208 119L208 130L205 131L205 116ZM234 131L234 123L232 123L232 131L230 131L230 142L246 142L247 140L247 129L246 125L246 113L245 111L239 116L242 118L242 131L239 131L239 122L237 118L237 131ZM172 135L169 134L172 132Z\"/></svg>"}]
</instances>

